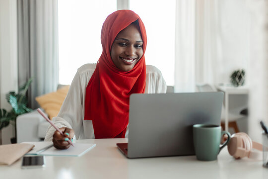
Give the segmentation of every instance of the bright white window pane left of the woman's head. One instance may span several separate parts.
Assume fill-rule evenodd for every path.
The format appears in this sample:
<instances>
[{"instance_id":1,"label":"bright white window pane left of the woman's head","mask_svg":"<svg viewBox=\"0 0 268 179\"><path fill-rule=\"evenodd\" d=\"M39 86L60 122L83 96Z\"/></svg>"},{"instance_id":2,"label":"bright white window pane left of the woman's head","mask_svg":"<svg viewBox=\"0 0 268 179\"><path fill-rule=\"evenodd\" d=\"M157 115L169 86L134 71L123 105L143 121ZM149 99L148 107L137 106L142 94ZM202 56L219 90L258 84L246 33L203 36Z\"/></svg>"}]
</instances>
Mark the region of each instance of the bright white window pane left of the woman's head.
<instances>
[{"instance_id":1,"label":"bright white window pane left of the woman's head","mask_svg":"<svg viewBox=\"0 0 268 179\"><path fill-rule=\"evenodd\" d=\"M59 0L60 84L70 84L83 64L97 63L101 27L116 6L116 0Z\"/></svg>"}]
</instances>

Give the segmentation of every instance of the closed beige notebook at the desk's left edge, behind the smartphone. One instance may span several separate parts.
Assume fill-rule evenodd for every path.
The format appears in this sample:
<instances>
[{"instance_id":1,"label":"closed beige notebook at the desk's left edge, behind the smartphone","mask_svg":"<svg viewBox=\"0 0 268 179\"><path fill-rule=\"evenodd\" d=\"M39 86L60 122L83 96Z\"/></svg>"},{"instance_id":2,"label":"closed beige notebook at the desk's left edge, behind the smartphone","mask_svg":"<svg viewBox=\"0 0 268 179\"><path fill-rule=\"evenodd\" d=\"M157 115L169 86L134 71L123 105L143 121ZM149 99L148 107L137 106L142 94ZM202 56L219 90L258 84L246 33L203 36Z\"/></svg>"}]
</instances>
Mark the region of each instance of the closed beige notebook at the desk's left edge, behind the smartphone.
<instances>
[{"instance_id":1,"label":"closed beige notebook at the desk's left edge, behind the smartphone","mask_svg":"<svg viewBox=\"0 0 268 179\"><path fill-rule=\"evenodd\" d=\"M32 144L0 145L0 165L11 165L24 154L32 150Z\"/></svg>"}]
</instances>

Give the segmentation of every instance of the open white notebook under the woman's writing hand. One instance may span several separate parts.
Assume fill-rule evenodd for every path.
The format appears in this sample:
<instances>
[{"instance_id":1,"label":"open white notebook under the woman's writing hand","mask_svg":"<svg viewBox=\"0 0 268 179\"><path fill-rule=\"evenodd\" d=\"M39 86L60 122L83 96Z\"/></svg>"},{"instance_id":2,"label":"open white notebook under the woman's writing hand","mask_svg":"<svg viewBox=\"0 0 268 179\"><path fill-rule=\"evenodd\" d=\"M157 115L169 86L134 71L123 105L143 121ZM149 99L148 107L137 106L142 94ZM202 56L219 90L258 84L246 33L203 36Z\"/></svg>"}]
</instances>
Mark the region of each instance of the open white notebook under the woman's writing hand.
<instances>
[{"instance_id":1,"label":"open white notebook under the woman's writing hand","mask_svg":"<svg viewBox=\"0 0 268 179\"><path fill-rule=\"evenodd\" d=\"M26 155L50 155L50 156L72 156L79 157L84 155L96 146L96 144L73 143L74 147L59 150L53 147L52 142L23 142L33 144L35 147ZM43 149L43 150L42 150Z\"/></svg>"}]
</instances>

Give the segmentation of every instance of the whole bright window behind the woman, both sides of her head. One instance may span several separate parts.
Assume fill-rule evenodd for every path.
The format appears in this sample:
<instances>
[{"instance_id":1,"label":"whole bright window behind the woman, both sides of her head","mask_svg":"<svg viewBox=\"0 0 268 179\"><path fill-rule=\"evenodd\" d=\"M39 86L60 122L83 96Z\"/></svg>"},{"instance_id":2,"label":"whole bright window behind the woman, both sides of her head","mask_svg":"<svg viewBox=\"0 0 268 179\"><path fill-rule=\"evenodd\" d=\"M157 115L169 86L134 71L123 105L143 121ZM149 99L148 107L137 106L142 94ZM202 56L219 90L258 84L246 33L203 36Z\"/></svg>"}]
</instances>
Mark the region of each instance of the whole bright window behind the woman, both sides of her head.
<instances>
[{"instance_id":1,"label":"whole bright window behind the woman, both sides of her head","mask_svg":"<svg viewBox=\"0 0 268 179\"><path fill-rule=\"evenodd\" d=\"M146 28L146 64L157 67L173 86L176 1L129 0L129 4ZM102 24L116 10L117 0L59 0L60 84L70 84L81 65L97 63Z\"/></svg>"}]
</instances>

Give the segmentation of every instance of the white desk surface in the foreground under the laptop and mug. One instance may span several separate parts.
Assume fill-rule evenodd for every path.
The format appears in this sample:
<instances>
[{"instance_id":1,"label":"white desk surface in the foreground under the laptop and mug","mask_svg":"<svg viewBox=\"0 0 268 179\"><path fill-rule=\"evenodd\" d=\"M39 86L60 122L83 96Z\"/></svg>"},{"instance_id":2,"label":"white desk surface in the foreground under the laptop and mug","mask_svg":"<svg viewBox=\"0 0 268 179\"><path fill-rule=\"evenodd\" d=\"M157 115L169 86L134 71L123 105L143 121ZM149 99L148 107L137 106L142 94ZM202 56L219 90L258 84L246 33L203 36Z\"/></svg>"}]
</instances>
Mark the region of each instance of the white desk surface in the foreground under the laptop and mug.
<instances>
[{"instance_id":1,"label":"white desk surface in the foreground under the laptop and mug","mask_svg":"<svg viewBox=\"0 0 268 179\"><path fill-rule=\"evenodd\" d=\"M21 159L0 166L1 179L267 179L268 169L261 161L235 160L227 148L217 161L202 162L196 156L127 159L116 143L127 139L90 139L96 143L81 157L45 156L43 169L20 169Z\"/></svg>"}]
</instances>

